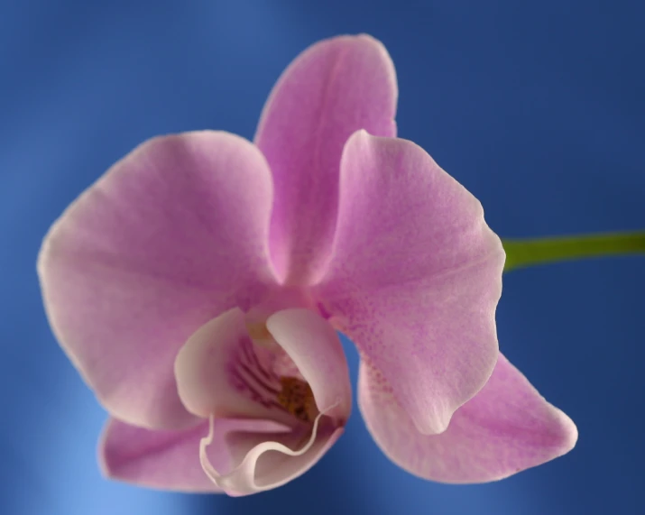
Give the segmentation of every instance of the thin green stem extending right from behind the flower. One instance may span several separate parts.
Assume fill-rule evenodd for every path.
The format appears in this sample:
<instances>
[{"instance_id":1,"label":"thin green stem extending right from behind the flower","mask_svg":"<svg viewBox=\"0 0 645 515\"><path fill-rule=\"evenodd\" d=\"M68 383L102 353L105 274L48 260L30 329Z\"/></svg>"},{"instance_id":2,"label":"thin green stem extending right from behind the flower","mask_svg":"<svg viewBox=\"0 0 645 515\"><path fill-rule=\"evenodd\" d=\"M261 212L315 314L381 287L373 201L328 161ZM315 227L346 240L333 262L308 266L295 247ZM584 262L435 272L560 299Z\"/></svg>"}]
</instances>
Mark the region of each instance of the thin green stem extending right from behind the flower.
<instances>
[{"instance_id":1,"label":"thin green stem extending right from behind the flower","mask_svg":"<svg viewBox=\"0 0 645 515\"><path fill-rule=\"evenodd\" d=\"M506 251L505 272L553 262L645 254L645 232L505 239L502 243Z\"/></svg>"}]
</instances>

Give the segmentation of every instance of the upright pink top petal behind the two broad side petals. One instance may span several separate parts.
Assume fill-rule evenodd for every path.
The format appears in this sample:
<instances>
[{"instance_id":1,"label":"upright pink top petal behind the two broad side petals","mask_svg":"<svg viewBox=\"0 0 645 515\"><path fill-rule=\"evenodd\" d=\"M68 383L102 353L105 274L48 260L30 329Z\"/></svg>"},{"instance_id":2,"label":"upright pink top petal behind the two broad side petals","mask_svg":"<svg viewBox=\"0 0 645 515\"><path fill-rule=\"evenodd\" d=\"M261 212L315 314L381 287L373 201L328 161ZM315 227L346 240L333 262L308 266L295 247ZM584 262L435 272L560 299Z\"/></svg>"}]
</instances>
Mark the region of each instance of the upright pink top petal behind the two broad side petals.
<instances>
[{"instance_id":1,"label":"upright pink top petal behind the two broad side petals","mask_svg":"<svg viewBox=\"0 0 645 515\"><path fill-rule=\"evenodd\" d=\"M397 95L392 60L367 35L309 47L273 88L255 143L273 172L271 253L287 282L307 282L326 261L343 145L361 128L395 135Z\"/></svg>"}]
</instances>

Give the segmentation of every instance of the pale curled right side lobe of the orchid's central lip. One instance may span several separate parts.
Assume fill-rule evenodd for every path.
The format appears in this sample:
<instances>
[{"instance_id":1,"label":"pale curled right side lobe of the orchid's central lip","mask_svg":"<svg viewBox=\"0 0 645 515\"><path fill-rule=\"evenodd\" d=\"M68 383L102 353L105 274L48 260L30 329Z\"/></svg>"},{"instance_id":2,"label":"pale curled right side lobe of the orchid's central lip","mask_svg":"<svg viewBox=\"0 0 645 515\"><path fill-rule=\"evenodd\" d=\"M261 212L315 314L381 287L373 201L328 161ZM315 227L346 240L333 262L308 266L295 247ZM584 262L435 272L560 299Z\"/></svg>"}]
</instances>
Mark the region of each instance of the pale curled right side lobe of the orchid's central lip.
<instances>
[{"instance_id":1,"label":"pale curled right side lobe of the orchid's central lip","mask_svg":"<svg viewBox=\"0 0 645 515\"><path fill-rule=\"evenodd\" d=\"M279 311L269 317L266 326L309 383L318 410L344 424L352 410L352 386L334 327L302 308Z\"/></svg>"}]
</instances>

